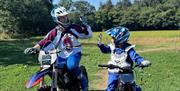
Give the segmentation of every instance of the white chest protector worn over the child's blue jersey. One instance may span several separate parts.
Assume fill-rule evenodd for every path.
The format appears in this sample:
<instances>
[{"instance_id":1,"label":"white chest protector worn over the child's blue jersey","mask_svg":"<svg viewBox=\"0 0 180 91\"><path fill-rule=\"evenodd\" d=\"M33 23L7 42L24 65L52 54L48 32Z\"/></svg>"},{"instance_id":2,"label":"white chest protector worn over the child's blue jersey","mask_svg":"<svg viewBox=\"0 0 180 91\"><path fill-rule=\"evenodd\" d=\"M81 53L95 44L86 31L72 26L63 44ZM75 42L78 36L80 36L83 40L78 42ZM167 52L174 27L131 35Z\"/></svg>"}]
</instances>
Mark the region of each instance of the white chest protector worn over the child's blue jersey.
<instances>
[{"instance_id":1,"label":"white chest protector worn over the child's blue jersey","mask_svg":"<svg viewBox=\"0 0 180 91\"><path fill-rule=\"evenodd\" d=\"M126 60L127 60L127 57L128 57L128 51L131 48L134 48L135 45L131 45L131 46L126 47L125 50L122 51L121 53L117 53L115 51L115 45L110 44L109 46L111 48L111 60L108 62L108 64L117 65L119 67L131 67L131 64L128 63ZM119 69L118 68L116 68L116 69L108 69L108 71L111 72L111 73L118 73Z\"/></svg>"}]
</instances>

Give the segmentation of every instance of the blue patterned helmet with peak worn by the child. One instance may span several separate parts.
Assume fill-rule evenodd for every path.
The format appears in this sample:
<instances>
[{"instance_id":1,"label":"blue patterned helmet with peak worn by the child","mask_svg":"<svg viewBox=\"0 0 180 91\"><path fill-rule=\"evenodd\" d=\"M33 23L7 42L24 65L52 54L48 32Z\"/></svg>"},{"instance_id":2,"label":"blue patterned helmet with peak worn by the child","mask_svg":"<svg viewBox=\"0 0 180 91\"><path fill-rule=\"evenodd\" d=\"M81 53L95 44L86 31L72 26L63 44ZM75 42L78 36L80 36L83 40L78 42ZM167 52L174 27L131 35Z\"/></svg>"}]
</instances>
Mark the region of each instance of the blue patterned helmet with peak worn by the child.
<instances>
[{"instance_id":1,"label":"blue patterned helmet with peak worn by the child","mask_svg":"<svg viewBox=\"0 0 180 91\"><path fill-rule=\"evenodd\" d=\"M122 26L111 28L106 33L115 39L115 45L127 42L130 36L129 29Z\"/></svg>"}]
</instances>

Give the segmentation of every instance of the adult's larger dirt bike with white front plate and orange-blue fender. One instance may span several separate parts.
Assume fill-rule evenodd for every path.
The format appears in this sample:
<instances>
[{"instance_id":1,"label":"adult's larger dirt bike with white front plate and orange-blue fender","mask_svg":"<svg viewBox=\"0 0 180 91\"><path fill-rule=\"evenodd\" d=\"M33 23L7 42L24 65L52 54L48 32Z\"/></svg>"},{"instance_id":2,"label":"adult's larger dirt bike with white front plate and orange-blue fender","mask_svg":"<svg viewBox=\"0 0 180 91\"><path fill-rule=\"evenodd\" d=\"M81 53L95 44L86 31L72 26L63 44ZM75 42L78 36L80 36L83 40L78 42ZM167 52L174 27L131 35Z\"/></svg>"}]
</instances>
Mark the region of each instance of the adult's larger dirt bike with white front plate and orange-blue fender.
<instances>
[{"instance_id":1,"label":"adult's larger dirt bike with white front plate and orange-blue fender","mask_svg":"<svg viewBox=\"0 0 180 91\"><path fill-rule=\"evenodd\" d=\"M57 68L56 60L58 53L63 50L48 50L45 51L43 48L35 53L39 53L38 60L40 63L40 70L36 72L32 77L26 82L27 88L32 88L38 84L39 89L37 91L80 91L81 85L80 80L75 78L71 72L67 69L66 63L64 61L60 62L62 67ZM37 52L38 51L38 52ZM87 72L84 66L80 66L81 72L87 76ZM45 84L45 76L48 75L51 78L51 85Z\"/></svg>"}]
</instances>

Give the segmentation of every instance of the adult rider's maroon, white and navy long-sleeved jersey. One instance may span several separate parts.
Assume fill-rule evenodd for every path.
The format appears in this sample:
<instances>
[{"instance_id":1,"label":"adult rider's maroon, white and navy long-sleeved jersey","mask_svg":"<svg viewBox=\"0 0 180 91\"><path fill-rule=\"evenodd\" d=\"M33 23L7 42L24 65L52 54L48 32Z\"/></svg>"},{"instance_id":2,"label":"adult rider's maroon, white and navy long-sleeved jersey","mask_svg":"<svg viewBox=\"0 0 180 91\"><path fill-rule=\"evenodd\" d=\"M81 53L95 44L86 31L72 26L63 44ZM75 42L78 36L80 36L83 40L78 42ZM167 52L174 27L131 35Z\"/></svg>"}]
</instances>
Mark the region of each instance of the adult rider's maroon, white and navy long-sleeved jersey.
<instances>
[{"instance_id":1,"label":"adult rider's maroon, white and navy long-sleeved jersey","mask_svg":"<svg viewBox=\"0 0 180 91\"><path fill-rule=\"evenodd\" d=\"M52 43L46 47L47 50L54 46L52 44L55 44L55 46L57 46L60 50L65 49L67 45L71 46L72 50L64 50L59 53L59 56L62 58L67 58L70 55L81 52L82 48L78 39L87 39L92 37L92 30L88 25L78 26L72 24L66 28L65 32L62 32L60 29L61 28L59 26L52 29L38 44L43 47L47 42L52 41Z\"/></svg>"}]
</instances>

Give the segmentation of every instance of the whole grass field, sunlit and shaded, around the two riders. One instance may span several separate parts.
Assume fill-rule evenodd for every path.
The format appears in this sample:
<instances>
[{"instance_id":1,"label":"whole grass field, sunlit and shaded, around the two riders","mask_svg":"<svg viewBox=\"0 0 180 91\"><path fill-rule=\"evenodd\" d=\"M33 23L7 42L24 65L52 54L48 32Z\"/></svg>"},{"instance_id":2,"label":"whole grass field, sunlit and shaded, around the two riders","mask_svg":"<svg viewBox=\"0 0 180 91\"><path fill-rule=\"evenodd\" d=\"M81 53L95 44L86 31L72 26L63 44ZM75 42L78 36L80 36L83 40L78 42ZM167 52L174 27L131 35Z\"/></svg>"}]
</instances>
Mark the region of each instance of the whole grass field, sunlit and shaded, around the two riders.
<instances>
[{"instance_id":1,"label":"whole grass field, sunlit and shaded, around the two riders","mask_svg":"<svg viewBox=\"0 0 180 91\"><path fill-rule=\"evenodd\" d=\"M98 64L107 63L109 54L102 54L97 47L97 36L81 40L83 57L89 75L91 90L105 88L106 69ZM110 38L104 33L103 41ZM0 40L0 91L35 91L37 88L26 89L25 81L38 69L37 56L23 54L23 50L32 47L42 37L31 39ZM137 31L131 32L130 43L136 44L139 54L152 62L152 66L137 73L137 83L143 91L180 91L180 31ZM144 75L143 82L140 81Z\"/></svg>"}]
</instances>

